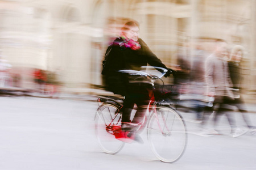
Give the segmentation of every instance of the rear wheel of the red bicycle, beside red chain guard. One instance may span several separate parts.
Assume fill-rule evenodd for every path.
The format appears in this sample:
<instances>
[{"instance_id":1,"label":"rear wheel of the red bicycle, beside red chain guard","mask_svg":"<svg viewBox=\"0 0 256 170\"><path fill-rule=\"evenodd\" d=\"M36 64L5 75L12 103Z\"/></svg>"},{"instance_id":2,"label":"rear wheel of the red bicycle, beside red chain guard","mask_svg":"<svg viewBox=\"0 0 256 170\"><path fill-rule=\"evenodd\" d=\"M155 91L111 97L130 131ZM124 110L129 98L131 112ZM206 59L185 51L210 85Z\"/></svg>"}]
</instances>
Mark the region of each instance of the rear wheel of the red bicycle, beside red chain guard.
<instances>
[{"instance_id":1,"label":"rear wheel of the red bicycle, beside red chain guard","mask_svg":"<svg viewBox=\"0 0 256 170\"><path fill-rule=\"evenodd\" d=\"M121 128L121 114L117 113L117 107L113 104L102 104L95 117L96 137L101 149L107 154L116 154L125 143L115 138L115 129Z\"/></svg>"}]
</instances>

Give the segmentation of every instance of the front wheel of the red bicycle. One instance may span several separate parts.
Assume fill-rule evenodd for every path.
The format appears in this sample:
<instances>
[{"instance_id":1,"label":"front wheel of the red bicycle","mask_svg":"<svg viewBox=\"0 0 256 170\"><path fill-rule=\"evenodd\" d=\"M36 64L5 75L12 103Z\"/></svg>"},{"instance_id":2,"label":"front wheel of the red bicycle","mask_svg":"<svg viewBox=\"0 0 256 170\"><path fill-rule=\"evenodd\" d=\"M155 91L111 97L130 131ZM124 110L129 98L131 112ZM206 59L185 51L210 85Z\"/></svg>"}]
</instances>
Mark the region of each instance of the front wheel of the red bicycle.
<instances>
[{"instance_id":1,"label":"front wheel of the red bicycle","mask_svg":"<svg viewBox=\"0 0 256 170\"><path fill-rule=\"evenodd\" d=\"M147 137L152 152L162 162L176 162L187 145L187 129L180 114L168 107L158 107L148 120Z\"/></svg>"}]
</instances>

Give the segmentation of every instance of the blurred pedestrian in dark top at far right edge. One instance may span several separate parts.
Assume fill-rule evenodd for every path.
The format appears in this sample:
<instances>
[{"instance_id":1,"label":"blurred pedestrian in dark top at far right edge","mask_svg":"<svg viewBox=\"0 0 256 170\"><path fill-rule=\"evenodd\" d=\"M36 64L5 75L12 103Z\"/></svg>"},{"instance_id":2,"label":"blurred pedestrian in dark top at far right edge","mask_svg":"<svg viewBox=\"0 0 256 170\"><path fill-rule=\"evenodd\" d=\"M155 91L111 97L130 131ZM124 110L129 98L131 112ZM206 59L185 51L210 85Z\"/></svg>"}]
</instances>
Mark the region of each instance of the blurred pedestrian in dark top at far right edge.
<instances>
[{"instance_id":1,"label":"blurred pedestrian in dark top at far right edge","mask_svg":"<svg viewBox=\"0 0 256 170\"><path fill-rule=\"evenodd\" d=\"M245 102L241 96L241 84L242 84L242 68L241 61L243 58L243 47L241 45L236 45L232 49L232 53L230 54L230 61L228 62L230 78L233 83L234 88L234 101L233 105L237 107L238 111L242 114L243 120L248 129L252 133L256 132L255 126L251 125L250 118L248 117L247 109L245 106Z\"/></svg>"}]
</instances>

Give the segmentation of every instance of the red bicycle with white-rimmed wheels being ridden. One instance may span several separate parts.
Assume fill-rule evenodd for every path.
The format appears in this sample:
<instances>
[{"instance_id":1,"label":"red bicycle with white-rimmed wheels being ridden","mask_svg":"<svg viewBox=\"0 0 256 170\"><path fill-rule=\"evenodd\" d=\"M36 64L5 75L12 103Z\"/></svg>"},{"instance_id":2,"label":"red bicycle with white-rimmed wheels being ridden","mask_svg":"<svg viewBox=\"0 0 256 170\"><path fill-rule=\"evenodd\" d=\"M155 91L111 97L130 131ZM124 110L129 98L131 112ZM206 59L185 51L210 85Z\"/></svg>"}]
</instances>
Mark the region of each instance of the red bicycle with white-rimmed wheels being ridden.
<instances>
[{"instance_id":1,"label":"red bicycle with white-rimmed wheels being ridden","mask_svg":"<svg viewBox=\"0 0 256 170\"><path fill-rule=\"evenodd\" d=\"M134 81L139 78L149 79L148 83L155 87L155 81L162 78L167 72L163 68L158 67L156 69L162 69L163 72L159 72L160 75L133 70L122 70L121 72L135 75ZM156 89L154 88L154 94L155 92ZM180 113L171 107L166 96L167 93L158 99L156 96L152 96L147 106L147 114L138 126L142 130L145 126L147 127L147 139L155 156L162 162L173 163L184 154L187 146L187 128ZM95 115L96 137L100 147L107 154L116 154L122 150L126 142L130 143L130 141L123 142L122 140L126 139L121 129L122 101L122 99L114 97L98 98L98 102L101 104Z\"/></svg>"}]
</instances>

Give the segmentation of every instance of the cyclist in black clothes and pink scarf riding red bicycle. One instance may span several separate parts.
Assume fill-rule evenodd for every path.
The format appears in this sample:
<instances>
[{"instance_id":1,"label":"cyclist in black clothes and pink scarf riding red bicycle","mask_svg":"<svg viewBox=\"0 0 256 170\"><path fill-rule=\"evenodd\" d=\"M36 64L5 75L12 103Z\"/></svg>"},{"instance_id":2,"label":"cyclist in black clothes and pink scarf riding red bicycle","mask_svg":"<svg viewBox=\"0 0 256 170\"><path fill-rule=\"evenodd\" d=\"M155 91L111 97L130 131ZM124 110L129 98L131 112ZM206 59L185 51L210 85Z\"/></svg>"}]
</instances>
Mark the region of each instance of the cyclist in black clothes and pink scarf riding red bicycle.
<instances>
[{"instance_id":1,"label":"cyclist in black clothes and pink scarf riding red bicycle","mask_svg":"<svg viewBox=\"0 0 256 170\"><path fill-rule=\"evenodd\" d=\"M127 131L127 137L134 134L133 128L142 121L150 101L151 85L148 83L130 83L129 76L120 70L141 70L147 64L154 67L167 69L165 76L176 74L176 71L168 69L158 57L148 48L146 43L139 38L139 23L131 20L125 23L121 29L120 37L109 46L108 59L104 63L102 75L106 77L108 90L125 96L122 108L122 130ZM106 57L105 57L106 59ZM137 105L137 112L130 121L131 111ZM130 133L130 134L129 134Z\"/></svg>"}]
</instances>

